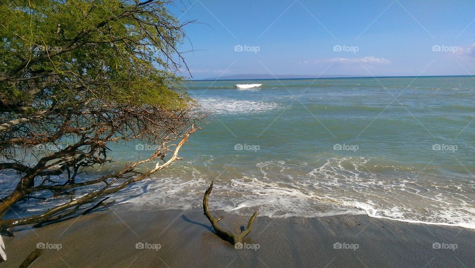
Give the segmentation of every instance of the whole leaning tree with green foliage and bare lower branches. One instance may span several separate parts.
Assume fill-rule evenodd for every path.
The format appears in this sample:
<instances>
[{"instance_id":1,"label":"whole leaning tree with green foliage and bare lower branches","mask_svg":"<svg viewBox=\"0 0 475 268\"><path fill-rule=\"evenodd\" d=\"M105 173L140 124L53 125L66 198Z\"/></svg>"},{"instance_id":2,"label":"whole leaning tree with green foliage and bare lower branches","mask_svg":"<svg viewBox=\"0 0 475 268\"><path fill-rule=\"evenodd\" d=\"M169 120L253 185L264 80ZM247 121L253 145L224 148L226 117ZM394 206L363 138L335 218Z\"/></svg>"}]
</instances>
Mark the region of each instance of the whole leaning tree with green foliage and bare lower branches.
<instances>
[{"instance_id":1,"label":"whole leaning tree with green foliage and bare lower branches","mask_svg":"<svg viewBox=\"0 0 475 268\"><path fill-rule=\"evenodd\" d=\"M90 203L95 208L107 195L180 159L178 151L201 115L177 86L177 71L188 70L178 47L190 22L180 24L169 4L0 3L0 171L17 174L11 178L16 186L1 199L1 230L77 215ZM110 163L108 144L136 139L158 149L118 172L77 177ZM76 196L78 189L87 193ZM5 218L21 200L43 198L38 193L70 198L27 218Z\"/></svg>"}]
</instances>

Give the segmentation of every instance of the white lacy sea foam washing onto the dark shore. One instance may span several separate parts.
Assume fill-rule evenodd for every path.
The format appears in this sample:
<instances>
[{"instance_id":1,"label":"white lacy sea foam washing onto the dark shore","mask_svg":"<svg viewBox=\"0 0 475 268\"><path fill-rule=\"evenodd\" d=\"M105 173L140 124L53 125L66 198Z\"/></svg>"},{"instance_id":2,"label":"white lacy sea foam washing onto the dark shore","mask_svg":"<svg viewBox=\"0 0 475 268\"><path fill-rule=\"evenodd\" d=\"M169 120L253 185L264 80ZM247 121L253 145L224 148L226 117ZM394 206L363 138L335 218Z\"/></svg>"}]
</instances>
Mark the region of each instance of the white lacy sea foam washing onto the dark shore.
<instances>
[{"instance_id":1,"label":"white lacy sea foam washing onto the dark shore","mask_svg":"<svg viewBox=\"0 0 475 268\"><path fill-rule=\"evenodd\" d=\"M471 200L463 191L455 197L442 191L441 182L433 177L419 175L417 181L411 180L397 174L400 167L381 167L371 158L322 160L296 164L266 161L231 177L223 176L215 181L213 206L238 215L250 215L259 209L261 216L272 218L366 214L400 222L475 229ZM127 202L142 209L200 209L211 173L207 168L199 169L188 170L192 175L187 178L178 171L168 174L170 177L152 178L145 185L126 190L125 196L136 195ZM145 194L139 194L143 191Z\"/></svg>"}]
</instances>

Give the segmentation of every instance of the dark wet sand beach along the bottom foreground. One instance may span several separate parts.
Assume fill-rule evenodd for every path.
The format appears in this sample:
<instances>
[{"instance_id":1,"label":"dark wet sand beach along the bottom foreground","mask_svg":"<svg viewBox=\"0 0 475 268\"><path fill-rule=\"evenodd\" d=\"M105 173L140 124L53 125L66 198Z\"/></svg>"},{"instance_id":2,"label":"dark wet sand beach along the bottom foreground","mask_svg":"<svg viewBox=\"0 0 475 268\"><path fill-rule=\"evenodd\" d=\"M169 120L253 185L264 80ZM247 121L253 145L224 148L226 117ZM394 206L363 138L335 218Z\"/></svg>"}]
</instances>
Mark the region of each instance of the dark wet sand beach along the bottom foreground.
<instances>
[{"instance_id":1,"label":"dark wet sand beach along the bottom foreground","mask_svg":"<svg viewBox=\"0 0 475 268\"><path fill-rule=\"evenodd\" d=\"M221 214L220 214L221 215ZM245 217L225 214L222 226L239 230ZM249 215L250 216L250 215ZM37 243L47 249L31 267L475 267L475 230L342 215L258 217L235 249L218 238L202 211L130 211L127 205L4 237L8 261L18 267ZM136 243L160 249L136 249ZM334 243L348 249L335 249ZM433 243L456 249L433 249ZM354 244L357 244L354 245ZM357 249L351 249L355 248Z\"/></svg>"}]
</instances>

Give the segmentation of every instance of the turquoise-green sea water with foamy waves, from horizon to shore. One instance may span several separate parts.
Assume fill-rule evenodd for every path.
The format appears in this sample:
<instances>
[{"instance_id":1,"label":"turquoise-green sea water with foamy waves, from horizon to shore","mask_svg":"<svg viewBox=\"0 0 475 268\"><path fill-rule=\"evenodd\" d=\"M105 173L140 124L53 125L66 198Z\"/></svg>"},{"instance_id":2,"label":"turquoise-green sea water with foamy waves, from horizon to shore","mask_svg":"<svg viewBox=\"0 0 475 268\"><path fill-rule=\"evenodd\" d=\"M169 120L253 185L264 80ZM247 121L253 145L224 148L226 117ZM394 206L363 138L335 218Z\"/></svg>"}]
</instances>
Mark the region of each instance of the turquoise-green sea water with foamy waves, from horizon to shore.
<instances>
[{"instance_id":1,"label":"turquoise-green sea water with foamy waves, from horizon to shore","mask_svg":"<svg viewBox=\"0 0 475 268\"><path fill-rule=\"evenodd\" d=\"M192 81L184 88L208 120L183 147L184 160L125 191L124 201L199 208L215 180L214 209L237 214L354 213L475 228L473 77ZM114 148L115 163L151 153L135 150L138 144Z\"/></svg>"}]
</instances>

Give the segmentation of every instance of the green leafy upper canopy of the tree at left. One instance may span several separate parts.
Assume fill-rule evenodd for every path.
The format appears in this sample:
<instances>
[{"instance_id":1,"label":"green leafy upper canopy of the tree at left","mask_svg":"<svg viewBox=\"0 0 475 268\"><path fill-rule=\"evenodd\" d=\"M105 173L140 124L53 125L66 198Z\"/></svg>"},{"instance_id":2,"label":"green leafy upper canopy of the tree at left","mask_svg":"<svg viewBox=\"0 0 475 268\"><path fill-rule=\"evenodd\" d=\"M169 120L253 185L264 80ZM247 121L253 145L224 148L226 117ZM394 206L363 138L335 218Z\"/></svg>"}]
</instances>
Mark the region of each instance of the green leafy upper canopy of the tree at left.
<instances>
[{"instance_id":1,"label":"green leafy upper canopy of the tree at left","mask_svg":"<svg viewBox=\"0 0 475 268\"><path fill-rule=\"evenodd\" d=\"M128 0L2 1L0 76L10 82L0 82L1 97L30 101L38 109L79 99L186 109L191 99L174 89L181 78L171 60L183 38L181 27L162 1L128 15L135 5ZM49 77L54 79L41 94L26 93L32 83Z\"/></svg>"}]
</instances>

